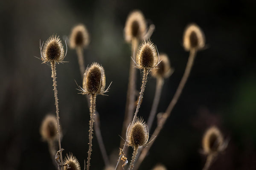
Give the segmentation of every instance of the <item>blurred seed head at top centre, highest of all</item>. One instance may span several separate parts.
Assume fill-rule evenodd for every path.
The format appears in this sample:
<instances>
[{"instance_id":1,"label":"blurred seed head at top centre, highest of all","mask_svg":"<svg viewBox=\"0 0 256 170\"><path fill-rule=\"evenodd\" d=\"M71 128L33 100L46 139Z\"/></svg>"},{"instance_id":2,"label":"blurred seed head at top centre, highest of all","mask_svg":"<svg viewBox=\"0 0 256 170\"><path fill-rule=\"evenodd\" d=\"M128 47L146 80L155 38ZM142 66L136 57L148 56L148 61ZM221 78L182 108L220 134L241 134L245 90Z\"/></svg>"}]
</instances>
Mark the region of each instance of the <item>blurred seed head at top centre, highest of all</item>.
<instances>
[{"instance_id":1,"label":"blurred seed head at top centre, highest of all","mask_svg":"<svg viewBox=\"0 0 256 170\"><path fill-rule=\"evenodd\" d=\"M125 41L131 42L133 38L143 40L146 28L147 26L142 12L139 10L132 11L128 15L125 23Z\"/></svg>"}]
</instances>

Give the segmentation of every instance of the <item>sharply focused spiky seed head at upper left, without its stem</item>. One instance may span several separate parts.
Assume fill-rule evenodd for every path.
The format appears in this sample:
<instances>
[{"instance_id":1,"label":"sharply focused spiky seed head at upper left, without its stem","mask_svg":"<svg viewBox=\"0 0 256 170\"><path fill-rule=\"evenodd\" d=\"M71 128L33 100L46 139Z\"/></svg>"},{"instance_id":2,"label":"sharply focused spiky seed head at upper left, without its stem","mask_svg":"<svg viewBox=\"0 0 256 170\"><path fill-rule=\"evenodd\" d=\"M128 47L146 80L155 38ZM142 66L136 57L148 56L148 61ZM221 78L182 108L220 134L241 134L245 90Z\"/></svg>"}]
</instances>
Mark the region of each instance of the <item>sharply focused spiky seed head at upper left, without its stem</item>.
<instances>
[{"instance_id":1,"label":"sharply focused spiky seed head at upper left, without its stem","mask_svg":"<svg viewBox=\"0 0 256 170\"><path fill-rule=\"evenodd\" d=\"M44 43L42 59L45 62L62 62L64 59L64 48L61 39L57 35L52 35Z\"/></svg>"}]
</instances>

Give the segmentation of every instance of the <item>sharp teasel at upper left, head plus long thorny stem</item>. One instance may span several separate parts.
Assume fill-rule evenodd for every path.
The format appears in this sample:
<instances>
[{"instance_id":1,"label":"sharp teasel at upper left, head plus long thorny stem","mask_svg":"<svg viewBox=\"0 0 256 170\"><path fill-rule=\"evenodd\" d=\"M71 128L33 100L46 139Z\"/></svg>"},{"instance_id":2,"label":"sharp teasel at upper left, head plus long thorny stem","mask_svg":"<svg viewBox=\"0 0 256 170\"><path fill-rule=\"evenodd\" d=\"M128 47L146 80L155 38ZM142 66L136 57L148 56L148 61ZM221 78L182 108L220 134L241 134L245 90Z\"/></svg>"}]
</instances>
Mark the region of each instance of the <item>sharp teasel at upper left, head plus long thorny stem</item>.
<instances>
[{"instance_id":1,"label":"sharp teasel at upper left, head plus long thorny stem","mask_svg":"<svg viewBox=\"0 0 256 170\"><path fill-rule=\"evenodd\" d=\"M58 133L58 147L61 158L61 169L63 170L63 159L61 149L61 134L60 134L60 123L59 123L59 111L58 111L58 96L57 96L57 82L56 82L56 63L64 62L64 58L67 55L67 44L66 53L64 54L64 46L57 35L52 35L48 40L41 45L40 41L40 53L43 63L50 63L52 68L52 80L53 80L53 91L55 97L56 106L56 119L57 119L57 133Z\"/></svg>"}]
</instances>

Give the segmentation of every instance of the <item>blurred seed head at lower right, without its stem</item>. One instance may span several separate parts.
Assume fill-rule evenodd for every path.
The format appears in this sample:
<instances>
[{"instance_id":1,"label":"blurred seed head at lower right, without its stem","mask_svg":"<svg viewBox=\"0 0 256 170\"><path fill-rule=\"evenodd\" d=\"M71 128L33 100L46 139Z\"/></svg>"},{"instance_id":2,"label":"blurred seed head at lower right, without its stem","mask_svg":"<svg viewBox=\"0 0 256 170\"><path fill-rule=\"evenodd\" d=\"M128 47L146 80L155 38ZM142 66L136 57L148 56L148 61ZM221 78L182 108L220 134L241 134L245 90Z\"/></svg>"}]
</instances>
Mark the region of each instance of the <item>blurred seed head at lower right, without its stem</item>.
<instances>
[{"instance_id":1,"label":"blurred seed head at lower right, without its stem","mask_svg":"<svg viewBox=\"0 0 256 170\"><path fill-rule=\"evenodd\" d=\"M215 126L210 127L204 133L202 144L204 153L206 154L217 153L221 151L224 144L224 139L220 130Z\"/></svg>"}]
</instances>

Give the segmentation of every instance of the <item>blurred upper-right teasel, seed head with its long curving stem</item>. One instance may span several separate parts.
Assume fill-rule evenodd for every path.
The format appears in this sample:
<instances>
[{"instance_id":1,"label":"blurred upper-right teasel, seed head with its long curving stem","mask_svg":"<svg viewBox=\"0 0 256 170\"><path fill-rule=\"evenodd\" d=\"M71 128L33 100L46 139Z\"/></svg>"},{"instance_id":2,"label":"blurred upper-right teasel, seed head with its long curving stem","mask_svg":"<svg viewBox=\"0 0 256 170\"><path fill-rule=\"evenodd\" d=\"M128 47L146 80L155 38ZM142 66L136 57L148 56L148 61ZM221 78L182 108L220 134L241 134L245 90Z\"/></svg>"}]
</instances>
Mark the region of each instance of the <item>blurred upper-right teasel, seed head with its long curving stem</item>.
<instances>
[{"instance_id":1,"label":"blurred upper-right teasel, seed head with its long curving stem","mask_svg":"<svg viewBox=\"0 0 256 170\"><path fill-rule=\"evenodd\" d=\"M163 116L161 118L161 120L159 121L160 123L157 124L156 129L154 130L153 133L153 137L150 138L151 143L148 144L148 147L143 148L140 157L138 158L138 161L136 163L136 167L134 167L135 170L138 169L138 167L140 166L140 164L142 163L142 161L145 159L145 156L148 153L148 150L151 148L152 144L154 144L154 141L156 139L156 136L158 136L158 134L160 133L160 131L163 128L163 125L165 124L167 118L170 116L174 106L176 105L180 94L186 84L186 81L189 77L190 71L192 69L194 60L195 60L195 56L196 56L196 52L199 50L203 50L204 49L204 45L205 45L205 38L204 38L204 33L201 30L201 28L199 28L199 26L197 26L196 24L189 24L184 31L183 34L183 47L185 49L185 51L189 51L189 59L185 68L185 72L183 74L183 77L180 80L180 83L177 87L177 90L172 98L172 101L170 102L168 108L166 109L165 113L163 113Z\"/></svg>"}]
</instances>

